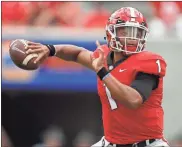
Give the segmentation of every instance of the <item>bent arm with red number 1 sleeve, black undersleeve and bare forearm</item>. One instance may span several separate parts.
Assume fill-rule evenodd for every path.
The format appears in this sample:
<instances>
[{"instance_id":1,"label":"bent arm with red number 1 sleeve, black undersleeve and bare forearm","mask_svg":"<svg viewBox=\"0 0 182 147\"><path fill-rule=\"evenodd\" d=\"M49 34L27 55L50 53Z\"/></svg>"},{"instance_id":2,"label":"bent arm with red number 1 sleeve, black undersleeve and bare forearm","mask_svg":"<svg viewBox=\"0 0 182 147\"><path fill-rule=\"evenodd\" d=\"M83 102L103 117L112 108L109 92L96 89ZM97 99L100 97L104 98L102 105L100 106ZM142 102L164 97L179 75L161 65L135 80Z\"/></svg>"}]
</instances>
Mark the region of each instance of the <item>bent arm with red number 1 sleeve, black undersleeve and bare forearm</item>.
<instances>
[{"instance_id":1,"label":"bent arm with red number 1 sleeve, black undersleeve and bare forearm","mask_svg":"<svg viewBox=\"0 0 182 147\"><path fill-rule=\"evenodd\" d=\"M166 63L164 60L154 59L142 62L130 86L122 84L114 76L108 74L103 82L110 90L112 98L118 100L128 108L139 108L157 88L159 78L165 76Z\"/></svg>"}]
</instances>

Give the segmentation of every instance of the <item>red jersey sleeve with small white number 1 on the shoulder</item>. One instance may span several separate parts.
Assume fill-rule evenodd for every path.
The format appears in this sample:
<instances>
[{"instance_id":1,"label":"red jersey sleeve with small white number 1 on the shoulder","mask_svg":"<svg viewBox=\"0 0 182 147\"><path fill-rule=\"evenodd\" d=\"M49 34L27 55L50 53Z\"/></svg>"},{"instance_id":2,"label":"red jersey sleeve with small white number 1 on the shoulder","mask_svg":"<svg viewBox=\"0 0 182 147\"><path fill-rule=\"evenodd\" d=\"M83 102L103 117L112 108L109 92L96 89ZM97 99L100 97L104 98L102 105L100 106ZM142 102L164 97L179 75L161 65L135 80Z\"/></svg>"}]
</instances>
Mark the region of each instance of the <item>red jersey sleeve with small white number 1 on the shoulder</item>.
<instances>
[{"instance_id":1,"label":"red jersey sleeve with small white number 1 on the shoulder","mask_svg":"<svg viewBox=\"0 0 182 147\"><path fill-rule=\"evenodd\" d=\"M143 72L148 74L164 77L166 74L167 64L163 58L153 58L148 60L141 60L137 67L137 72Z\"/></svg>"}]
</instances>

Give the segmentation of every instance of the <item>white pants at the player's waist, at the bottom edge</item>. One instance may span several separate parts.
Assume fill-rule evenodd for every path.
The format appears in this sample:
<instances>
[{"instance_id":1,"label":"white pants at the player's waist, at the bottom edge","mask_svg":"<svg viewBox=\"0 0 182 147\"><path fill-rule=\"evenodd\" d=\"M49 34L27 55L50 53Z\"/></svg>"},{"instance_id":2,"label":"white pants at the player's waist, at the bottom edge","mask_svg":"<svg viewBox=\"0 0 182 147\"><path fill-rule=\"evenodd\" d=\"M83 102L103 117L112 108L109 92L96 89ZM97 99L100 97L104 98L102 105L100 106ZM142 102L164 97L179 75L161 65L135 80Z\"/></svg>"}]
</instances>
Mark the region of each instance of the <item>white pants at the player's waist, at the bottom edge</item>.
<instances>
[{"instance_id":1,"label":"white pants at the player's waist, at the bottom edge","mask_svg":"<svg viewBox=\"0 0 182 147\"><path fill-rule=\"evenodd\" d=\"M108 142L105 139L105 137L103 136L99 142L95 143L91 147L115 147L114 145L112 146L109 144L110 144L110 142ZM134 146L134 147L137 147L137 146ZM169 145L162 139L158 139L158 140L152 142L151 144L148 144L146 147L169 147Z\"/></svg>"}]
</instances>

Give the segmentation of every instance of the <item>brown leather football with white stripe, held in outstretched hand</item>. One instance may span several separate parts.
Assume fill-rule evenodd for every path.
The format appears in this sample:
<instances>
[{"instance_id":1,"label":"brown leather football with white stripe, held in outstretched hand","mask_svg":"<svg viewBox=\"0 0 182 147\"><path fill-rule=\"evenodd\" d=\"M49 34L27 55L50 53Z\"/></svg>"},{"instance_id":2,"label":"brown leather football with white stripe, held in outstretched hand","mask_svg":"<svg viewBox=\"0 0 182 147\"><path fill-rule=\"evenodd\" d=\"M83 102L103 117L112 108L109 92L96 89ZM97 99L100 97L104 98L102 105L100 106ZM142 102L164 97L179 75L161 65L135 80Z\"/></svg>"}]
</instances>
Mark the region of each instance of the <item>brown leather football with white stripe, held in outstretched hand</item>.
<instances>
[{"instance_id":1,"label":"brown leather football with white stripe, held in outstretched hand","mask_svg":"<svg viewBox=\"0 0 182 147\"><path fill-rule=\"evenodd\" d=\"M24 70L35 70L39 67L38 63L34 63L38 54L26 54L27 41L23 39L13 40L10 43L9 54L13 63Z\"/></svg>"}]
</instances>

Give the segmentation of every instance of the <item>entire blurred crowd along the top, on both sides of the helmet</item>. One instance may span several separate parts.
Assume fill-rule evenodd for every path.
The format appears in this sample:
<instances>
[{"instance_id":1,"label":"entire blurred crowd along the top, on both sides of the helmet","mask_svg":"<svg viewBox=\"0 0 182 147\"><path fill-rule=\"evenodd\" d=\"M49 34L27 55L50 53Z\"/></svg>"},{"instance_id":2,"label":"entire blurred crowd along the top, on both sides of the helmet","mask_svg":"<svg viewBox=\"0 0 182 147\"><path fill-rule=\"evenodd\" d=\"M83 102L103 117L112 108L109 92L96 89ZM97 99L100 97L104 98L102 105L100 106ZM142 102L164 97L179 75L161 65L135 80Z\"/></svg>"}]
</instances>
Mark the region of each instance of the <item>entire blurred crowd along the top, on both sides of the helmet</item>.
<instances>
[{"instance_id":1,"label":"entire blurred crowd along the top, on both sides of the helmet","mask_svg":"<svg viewBox=\"0 0 182 147\"><path fill-rule=\"evenodd\" d=\"M2 25L103 28L112 9L111 2L2 2ZM154 37L166 34L182 38L182 2L147 2L147 19ZM120 2L118 8L125 6ZM132 6L132 5L130 5ZM16 10L16 11L15 11Z\"/></svg>"}]
</instances>

